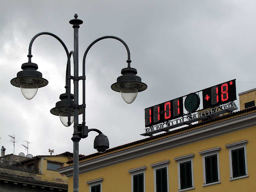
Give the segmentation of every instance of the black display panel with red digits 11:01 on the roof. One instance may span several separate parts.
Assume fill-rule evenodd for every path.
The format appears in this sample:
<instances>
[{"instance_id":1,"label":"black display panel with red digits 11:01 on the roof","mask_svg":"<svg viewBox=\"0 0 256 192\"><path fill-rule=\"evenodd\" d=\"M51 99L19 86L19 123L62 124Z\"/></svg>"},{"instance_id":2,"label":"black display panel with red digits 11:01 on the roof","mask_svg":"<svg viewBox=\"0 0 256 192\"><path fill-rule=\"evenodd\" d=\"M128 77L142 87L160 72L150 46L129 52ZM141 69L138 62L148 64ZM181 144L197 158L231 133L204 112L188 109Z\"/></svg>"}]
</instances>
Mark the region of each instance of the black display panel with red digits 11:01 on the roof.
<instances>
[{"instance_id":1,"label":"black display panel with red digits 11:01 on the roof","mask_svg":"<svg viewBox=\"0 0 256 192\"><path fill-rule=\"evenodd\" d=\"M153 126L180 116L183 116L182 97L146 108L145 126Z\"/></svg>"}]
</instances>

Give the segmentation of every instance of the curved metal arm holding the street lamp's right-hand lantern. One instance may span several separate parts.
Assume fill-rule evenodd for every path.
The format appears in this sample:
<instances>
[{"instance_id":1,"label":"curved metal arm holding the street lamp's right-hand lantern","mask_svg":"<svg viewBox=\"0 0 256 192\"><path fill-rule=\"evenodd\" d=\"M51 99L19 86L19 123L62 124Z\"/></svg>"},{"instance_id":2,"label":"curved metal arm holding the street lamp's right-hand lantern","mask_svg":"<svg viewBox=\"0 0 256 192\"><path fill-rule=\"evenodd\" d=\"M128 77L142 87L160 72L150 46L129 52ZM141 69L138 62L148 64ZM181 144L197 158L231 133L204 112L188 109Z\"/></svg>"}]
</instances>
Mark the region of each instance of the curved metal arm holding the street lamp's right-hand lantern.
<instances>
[{"instance_id":1,"label":"curved metal arm holding the street lamp's right-hand lantern","mask_svg":"<svg viewBox=\"0 0 256 192\"><path fill-rule=\"evenodd\" d=\"M128 68L130 68L131 66L131 58L130 58L130 50L128 48L128 45L126 44L126 42L124 42L122 39L116 37L116 36L103 36L103 37L100 37L96 40L94 40L89 46L88 48L86 49L86 51L84 52L84 57L83 57L83 77L85 77L85 59L86 59L86 56L87 56L87 53L88 51L90 50L90 48L98 41L100 40L103 40L103 39L116 39L118 41L120 41L122 44L124 44L126 50L127 50L127 55L128 55L128 58L127 58L127 63L128 63ZM85 80L83 80L83 104L85 104ZM85 125L85 108L83 108L83 125Z\"/></svg>"}]
</instances>

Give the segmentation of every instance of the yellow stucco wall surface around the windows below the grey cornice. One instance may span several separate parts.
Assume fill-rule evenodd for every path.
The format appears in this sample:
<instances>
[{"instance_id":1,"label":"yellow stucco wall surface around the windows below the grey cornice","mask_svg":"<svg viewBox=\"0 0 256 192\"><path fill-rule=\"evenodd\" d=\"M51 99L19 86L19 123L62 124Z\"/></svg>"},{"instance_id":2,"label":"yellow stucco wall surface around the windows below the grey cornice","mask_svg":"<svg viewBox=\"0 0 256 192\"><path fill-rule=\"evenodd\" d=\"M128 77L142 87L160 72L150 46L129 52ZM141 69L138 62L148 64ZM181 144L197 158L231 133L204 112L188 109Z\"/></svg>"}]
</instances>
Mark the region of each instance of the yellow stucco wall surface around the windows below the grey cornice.
<instances>
[{"instance_id":1,"label":"yellow stucco wall surface around the windows below the grey cornice","mask_svg":"<svg viewBox=\"0 0 256 192\"><path fill-rule=\"evenodd\" d=\"M194 166L194 186L193 191L207 191L207 192L241 192L241 191L254 191L256 187L256 166L254 160L256 158L255 147L256 147L256 127L250 127L228 134L208 138L170 150L158 152L122 162L98 170L85 172L79 175L79 186L80 190L89 192L89 186L86 184L87 181L103 178L102 191L122 191L131 192L131 175L128 170L146 166L146 192L154 192L154 173L153 168L150 164L161 162L164 160L170 160L168 165L169 174L169 189L170 192L178 191L178 168L177 162L174 158L185 154L195 154L193 159ZM242 178L239 180L230 181L230 170L229 170L229 156L228 148L224 145L232 143L238 140L248 140L246 144L247 158L248 158L248 178ZM203 167L202 167L202 156L198 153L207 148L220 147L219 159L220 159L220 184L203 187ZM73 179L69 178L68 191L72 192Z\"/></svg>"}]
</instances>

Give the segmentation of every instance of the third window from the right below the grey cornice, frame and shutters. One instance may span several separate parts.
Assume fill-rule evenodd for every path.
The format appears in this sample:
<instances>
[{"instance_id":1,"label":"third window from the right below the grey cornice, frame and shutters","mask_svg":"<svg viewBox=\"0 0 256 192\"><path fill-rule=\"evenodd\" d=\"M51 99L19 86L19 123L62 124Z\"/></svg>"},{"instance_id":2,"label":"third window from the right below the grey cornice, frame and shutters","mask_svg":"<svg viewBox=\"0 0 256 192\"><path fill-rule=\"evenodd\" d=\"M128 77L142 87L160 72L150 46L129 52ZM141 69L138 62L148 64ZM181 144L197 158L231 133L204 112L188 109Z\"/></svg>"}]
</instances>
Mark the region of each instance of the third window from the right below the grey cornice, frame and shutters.
<instances>
[{"instance_id":1,"label":"third window from the right below the grey cornice, frame and shutters","mask_svg":"<svg viewBox=\"0 0 256 192\"><path fill-rule=\"evenodd\" d=\"M178 189L185 191L194 189L193 157L189 154L174 158L178 162Z\"/></svg>"}]
</instances>

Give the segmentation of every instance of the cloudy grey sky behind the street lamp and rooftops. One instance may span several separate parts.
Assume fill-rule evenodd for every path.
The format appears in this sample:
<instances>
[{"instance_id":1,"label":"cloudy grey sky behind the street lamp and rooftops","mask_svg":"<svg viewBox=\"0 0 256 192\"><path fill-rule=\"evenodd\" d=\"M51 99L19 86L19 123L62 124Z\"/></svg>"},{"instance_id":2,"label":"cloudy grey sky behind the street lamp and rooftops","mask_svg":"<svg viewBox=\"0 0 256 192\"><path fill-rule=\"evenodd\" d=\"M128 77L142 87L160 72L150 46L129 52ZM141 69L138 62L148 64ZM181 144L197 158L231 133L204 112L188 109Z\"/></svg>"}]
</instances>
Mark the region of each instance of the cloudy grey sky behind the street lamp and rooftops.
<instances>
[{"instance_id":1,"label":"cloudy grey sky behind the street lamp and rooftops","mask_svg":"<svg viewBox=\"0 0 256 192\"><path fill-rule=\"evenodd\" d=\"M148 89L126 104L110 86L126 67L127 53L116 40L95 44L86 58L86 124L98 128L110 147L143 139L144 108L236 78L237 94L256 87L256 1L254 0L2 0L0 5L1 146L15 154L32 142L32 155L72 152L73 128L64 127L50 109L64 93L66 54L50 36L32 47L32 62L49 81L32 100L10 84L27 62L28 45L39 32L59 36L73 50L74 14L79 29L79 62L96 38L122 38L131 66ZM82 74L82 70L80 70ZM80 86L82 89L82 86ZM80 104L82 94L80 94ZM238 104L238 102L236 102ZM239 106L238 106L239 107ZM81 121L80 121L81 122ZM96 133L80 141L80 154L91 154Z\"/></svg>"}]
</instances>

